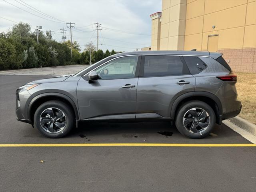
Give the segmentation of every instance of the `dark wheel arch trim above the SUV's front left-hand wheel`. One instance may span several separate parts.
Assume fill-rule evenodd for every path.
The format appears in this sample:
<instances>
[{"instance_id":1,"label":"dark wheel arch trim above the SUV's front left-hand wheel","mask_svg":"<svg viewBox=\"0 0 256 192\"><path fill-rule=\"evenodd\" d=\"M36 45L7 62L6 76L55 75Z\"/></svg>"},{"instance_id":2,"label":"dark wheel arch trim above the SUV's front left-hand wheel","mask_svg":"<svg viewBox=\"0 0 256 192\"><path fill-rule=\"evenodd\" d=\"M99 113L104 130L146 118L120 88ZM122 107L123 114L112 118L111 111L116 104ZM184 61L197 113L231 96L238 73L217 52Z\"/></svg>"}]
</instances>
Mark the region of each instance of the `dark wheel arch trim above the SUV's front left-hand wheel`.
<instances>
[{"instance_id":1,"label":"dark wheel arch trim above the SUV's front left-hand wheel","mask_svg":"<svg viewBox=\"0 0 256 192\"><path fill-rule=\"evenodd\" d=\"M39 94L37 96L35 96L28 104L28 117L30 118L31 122L33 123L34 120L34 113L36 111L36 109L44 102L46 101L50 101L50 100L61 100L64 101L66 104L68 104L70 106L70 108L73 110L75 116L76 116L76 121L79 120L79 113L78 113L78 109L76 107L76 104L74 103L74 101L61 93L43 93L43 94Z\"/></svg>"}]
</instances>

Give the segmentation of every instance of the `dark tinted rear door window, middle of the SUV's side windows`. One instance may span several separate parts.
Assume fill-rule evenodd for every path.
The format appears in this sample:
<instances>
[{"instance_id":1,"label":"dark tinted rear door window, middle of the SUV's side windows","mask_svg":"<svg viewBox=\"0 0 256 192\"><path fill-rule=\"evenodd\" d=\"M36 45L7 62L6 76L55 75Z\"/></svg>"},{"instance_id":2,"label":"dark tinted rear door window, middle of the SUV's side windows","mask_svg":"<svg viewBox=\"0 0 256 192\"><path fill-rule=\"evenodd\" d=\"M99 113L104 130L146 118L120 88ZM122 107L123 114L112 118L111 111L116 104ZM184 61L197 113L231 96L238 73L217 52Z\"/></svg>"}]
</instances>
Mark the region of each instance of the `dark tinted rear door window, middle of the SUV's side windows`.
<instances>
[{"instance_id":1,"label":"dark tinted rear door window, middle of the SUV's side windows","mask_svg":"<svg viewBox=\"0 0 256 192\"><path fill-rule=\"evenodd\" d=\"M183 74L180 56L145 56L144 77Z\"/></svg>"}]
</instances>

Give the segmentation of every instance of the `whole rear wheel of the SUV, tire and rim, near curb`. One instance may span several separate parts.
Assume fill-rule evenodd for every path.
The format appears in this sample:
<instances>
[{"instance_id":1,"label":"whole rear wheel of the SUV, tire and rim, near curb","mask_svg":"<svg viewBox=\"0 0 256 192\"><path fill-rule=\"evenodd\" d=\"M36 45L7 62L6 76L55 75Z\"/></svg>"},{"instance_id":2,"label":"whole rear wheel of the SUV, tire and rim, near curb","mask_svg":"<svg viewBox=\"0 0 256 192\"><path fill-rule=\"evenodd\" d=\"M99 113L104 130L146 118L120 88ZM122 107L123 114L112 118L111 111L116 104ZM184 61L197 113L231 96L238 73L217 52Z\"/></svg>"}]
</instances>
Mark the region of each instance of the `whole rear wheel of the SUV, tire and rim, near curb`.
<instances>
[{"instance_id":1,"label":"whole rear wheel of the SUV, tire and rim, near curb","mask_svg":"<svg viewBox=\"0 0 256 192\"><path fill-rule=\"evenodd\" d=\"M175 125L181 134L198 139L211 132L215 119L215 113L208 104L194 100L179 108Z\"/></svg>"}]
</instances>

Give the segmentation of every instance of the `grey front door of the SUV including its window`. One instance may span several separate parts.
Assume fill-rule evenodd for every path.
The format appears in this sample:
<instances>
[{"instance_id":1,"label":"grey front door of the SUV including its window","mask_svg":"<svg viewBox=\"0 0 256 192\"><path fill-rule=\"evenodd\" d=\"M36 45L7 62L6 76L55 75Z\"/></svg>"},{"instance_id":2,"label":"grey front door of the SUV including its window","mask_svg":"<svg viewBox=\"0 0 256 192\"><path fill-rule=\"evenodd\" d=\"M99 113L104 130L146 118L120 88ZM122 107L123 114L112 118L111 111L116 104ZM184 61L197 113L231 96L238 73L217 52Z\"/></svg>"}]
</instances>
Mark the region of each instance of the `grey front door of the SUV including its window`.
<instances>
[{"instance_id":1,"label":"grey front door of the SUV including its window","mask_svg":"<svg viewBox=\"0 0 256 192\"><path fill-rule=\"evenodd\" d=\"M135 118L140 56L124 56L96 68L98 80L80 78L77 99L81 120Z\"/></svg>"}]
</instances>

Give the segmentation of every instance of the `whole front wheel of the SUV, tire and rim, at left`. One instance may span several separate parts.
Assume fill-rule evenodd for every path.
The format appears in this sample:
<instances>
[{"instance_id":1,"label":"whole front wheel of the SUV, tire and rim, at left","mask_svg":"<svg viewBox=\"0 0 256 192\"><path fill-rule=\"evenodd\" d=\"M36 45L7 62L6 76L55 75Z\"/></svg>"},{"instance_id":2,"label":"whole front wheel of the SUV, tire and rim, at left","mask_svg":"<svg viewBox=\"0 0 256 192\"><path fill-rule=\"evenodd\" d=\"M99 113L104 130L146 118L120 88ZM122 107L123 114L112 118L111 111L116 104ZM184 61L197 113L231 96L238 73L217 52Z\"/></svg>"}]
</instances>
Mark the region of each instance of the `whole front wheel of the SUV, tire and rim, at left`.
<instances>
[{"instance_id":1,"label":"whole front wheel of the SUV, tire and rim, at left","mask_svg":"<svg viewBox=\"0 0 256 192\"><path fill-rule=\"evenodd\" d=\"M47 101L37 108L34 123L44 136L61 138L66 136L74 126L74 113L62 101Z\"/></svg>"}]
</instances>

